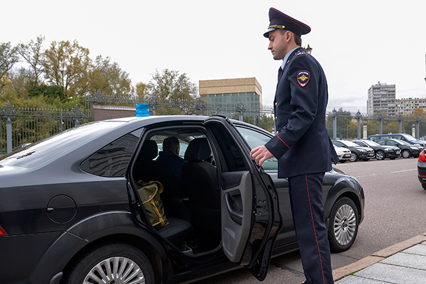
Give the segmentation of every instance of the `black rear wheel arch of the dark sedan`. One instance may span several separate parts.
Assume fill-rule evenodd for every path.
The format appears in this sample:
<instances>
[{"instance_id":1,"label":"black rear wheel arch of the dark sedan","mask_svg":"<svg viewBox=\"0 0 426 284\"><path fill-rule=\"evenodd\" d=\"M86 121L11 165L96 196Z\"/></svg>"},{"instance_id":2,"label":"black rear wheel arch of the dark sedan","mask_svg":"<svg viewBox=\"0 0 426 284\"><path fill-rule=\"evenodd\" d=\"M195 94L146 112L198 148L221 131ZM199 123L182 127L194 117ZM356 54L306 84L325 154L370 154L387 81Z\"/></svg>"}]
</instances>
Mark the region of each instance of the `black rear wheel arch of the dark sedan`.
<instances>
[{"instance_id":1,"label":"black rear wheel arch of the dark sedan","mask_svg":"<svg viewBox=\"0 0 426 284\"><path fill-rule=\"evenodd\" d=\"M134 245L144 252L156 280L167 278L165 273L170 269L165 247L148 228L137 224L130 212L115 211L90 216L64 231L39 260L30 283L50 283L60 273L66 273L85 252L117 242Z\"/></svg>"}]
</instances>

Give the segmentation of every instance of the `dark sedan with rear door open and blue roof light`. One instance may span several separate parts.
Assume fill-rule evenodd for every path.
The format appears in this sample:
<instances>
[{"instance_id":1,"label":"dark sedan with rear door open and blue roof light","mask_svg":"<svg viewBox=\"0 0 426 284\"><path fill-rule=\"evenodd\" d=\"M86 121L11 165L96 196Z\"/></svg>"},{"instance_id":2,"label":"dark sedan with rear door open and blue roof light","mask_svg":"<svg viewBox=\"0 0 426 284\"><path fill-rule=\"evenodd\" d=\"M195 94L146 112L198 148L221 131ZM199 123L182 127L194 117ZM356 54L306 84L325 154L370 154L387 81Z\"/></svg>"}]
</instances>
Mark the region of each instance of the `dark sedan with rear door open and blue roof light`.
<instances>
[{"instance_id":1,"label":"dark sedan with rear door open and blue roof light","mask_svg":"<svg viewBox=\"0 0 426 284\"><path fill-rule=\"evenodd\" d=\"M157 142L170 136L188 145L183 182L155 161ZM86 123L2 157L1 283L181 283L238 266L265 278L271 255L298 247L277 160L259 168L249 158L270 137L223 116L132 117ZM141 181L163 184L169 224L160 229ZM347 250L364 191L338 170L323 188L331 249Z\"/></svg>"}]
</instances>

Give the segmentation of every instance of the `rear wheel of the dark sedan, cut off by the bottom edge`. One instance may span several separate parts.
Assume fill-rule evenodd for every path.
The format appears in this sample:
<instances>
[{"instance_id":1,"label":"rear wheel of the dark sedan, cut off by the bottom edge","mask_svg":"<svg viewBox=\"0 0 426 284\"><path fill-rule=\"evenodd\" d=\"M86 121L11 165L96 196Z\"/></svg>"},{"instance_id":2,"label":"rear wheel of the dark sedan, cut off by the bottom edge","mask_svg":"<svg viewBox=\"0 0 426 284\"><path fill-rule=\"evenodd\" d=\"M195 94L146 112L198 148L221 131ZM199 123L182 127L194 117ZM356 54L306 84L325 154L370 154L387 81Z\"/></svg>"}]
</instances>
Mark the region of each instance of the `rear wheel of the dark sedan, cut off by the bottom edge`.
<instances>
[{"instance_id":1,"label":"rear wheel of the dark sedan, cut off by the bottom edge","mask_svg":"<svg viewBox=\"0 0 426 284\"><path fill-rule=\"evenodd\" d=\"M151 262L132 245L112 243L83 255L64 275L67 284L82 283L137 283L155 282Z\"/></svg>"}]
</instances>

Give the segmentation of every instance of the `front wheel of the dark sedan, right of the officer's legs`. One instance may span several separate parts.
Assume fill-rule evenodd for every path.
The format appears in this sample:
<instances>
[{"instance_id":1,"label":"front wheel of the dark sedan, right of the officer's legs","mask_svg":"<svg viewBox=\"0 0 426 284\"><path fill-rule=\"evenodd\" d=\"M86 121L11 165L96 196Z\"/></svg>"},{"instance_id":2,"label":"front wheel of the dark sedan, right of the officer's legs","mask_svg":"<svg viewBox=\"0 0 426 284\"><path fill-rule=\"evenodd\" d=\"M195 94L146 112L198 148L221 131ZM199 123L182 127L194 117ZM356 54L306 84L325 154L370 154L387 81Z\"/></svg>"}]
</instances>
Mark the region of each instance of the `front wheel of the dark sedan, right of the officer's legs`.
<instances>
[{"instance_id":1,"label":"front wheel of the dark sedan, right of the officer's legs","mask_svg":"<svg viewBox=\"0 0 426 284\"><path fill-rule=\"evenodd\" d=\"M357 238L358 209L349 197L339 198L330 212L329 243L333 252L348 250Z\"/></svg>"}]
</instances>

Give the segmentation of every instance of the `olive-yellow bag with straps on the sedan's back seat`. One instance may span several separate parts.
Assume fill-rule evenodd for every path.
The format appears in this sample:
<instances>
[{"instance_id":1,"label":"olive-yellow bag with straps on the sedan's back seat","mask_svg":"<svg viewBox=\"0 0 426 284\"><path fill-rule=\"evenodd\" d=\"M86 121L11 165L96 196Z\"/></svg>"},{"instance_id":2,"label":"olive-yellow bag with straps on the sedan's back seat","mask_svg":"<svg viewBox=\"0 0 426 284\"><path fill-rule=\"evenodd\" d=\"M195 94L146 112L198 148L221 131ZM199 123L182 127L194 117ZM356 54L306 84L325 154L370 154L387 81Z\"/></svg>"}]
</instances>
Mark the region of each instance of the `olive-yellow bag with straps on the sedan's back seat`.
<instances>
[{"instance_id":1,"label":"olive-yellow bag with straps on the sedan's back seat","mask_svg":"<svg viewBox=\"0 0 426 284\"><path fill-rule=\"evenodd\" d=\"M137 182L137 191L144 205L149 222L154 228L160 229L169 224L165 216L163 202L160 199L160 193L163 192L161 182L151 181L144 183L142 180Z\"/></svg>"}]
</instances>

